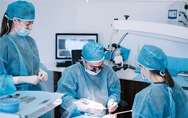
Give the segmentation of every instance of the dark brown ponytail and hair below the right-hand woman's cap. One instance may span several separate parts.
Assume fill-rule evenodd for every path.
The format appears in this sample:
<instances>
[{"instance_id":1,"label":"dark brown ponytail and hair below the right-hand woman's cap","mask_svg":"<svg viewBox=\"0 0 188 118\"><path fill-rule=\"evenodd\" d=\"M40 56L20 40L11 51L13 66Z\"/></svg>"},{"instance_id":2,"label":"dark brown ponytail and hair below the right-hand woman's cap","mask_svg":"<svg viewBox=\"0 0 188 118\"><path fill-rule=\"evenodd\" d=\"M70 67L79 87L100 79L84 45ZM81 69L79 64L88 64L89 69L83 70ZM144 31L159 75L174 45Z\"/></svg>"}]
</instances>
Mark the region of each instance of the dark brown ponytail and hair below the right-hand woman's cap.
<instances>
[{"instance_id":1,"label":"dark brown ponytail and hair below the right-hand woman's cap","mask_svg":"<svg viewBox=\"0 0 188 118\"><path fill-rule=\"evenodd\" d=\"M162 75L160 74L160 71L158 71L158 70L151 70L151 72L154 73L154 74L157 74L157 75L159 75L159 76L162 76ZM166 80L166 83L167 83L170 87L174 87L174 80L172 79L172 76L170 75L170 73L168 72L167 69L165 69L165 73L164 73L164 74L165 74L165 75L164 75L164 78L165 78L165 80Z\"/></svg>"}]
</instances>

